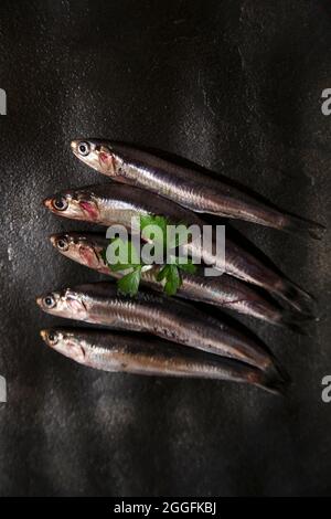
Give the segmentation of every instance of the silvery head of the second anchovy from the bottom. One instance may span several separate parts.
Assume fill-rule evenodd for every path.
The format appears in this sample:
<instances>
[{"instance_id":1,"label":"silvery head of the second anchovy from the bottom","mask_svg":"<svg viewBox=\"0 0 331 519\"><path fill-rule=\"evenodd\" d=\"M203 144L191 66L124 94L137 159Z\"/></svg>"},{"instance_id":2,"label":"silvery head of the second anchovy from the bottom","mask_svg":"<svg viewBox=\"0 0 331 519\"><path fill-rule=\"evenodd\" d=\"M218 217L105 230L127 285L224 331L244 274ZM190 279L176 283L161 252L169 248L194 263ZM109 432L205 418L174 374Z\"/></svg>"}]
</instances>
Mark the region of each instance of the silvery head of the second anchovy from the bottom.
<instances>
[{"instance_id":1,"label":"silvery head of the second anchovy from the bottom","mask_svg":"<svg viewBox=\"0 0 331 519\"><path fill-rule=\"evenodd\" d=\"M43 311L54 316L77 320L87 318L87 308L82 294L72 288L39 296L36 304Z\"/></svg>"}]
</instances>

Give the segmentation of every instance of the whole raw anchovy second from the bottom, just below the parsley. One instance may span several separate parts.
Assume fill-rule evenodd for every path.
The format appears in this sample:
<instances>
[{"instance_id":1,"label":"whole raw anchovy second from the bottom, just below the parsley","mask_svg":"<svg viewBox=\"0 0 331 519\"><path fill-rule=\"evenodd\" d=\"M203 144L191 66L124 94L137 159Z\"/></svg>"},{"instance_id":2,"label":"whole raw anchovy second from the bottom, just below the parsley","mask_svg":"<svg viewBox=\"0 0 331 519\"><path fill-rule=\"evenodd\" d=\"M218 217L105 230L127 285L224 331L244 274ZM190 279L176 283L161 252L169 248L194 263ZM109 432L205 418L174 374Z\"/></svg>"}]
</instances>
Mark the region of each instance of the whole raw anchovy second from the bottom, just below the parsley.
<instances>
[{"instance_id":1,"label":"whole raw anchovy second from the bottom, just below the parsley","mask_svg":"<svg viewBox=\"0 0 331 519\"><path fill-rule=\"evenodd\" d=\"M277 370L271 352L258 339L253 340L221 319L162 295L139 292L130 298L119 295L114 283L94 283L45 294L36 303L44 311L67 319L145 331L261 370Z\"/></svg>"}]
</instances>

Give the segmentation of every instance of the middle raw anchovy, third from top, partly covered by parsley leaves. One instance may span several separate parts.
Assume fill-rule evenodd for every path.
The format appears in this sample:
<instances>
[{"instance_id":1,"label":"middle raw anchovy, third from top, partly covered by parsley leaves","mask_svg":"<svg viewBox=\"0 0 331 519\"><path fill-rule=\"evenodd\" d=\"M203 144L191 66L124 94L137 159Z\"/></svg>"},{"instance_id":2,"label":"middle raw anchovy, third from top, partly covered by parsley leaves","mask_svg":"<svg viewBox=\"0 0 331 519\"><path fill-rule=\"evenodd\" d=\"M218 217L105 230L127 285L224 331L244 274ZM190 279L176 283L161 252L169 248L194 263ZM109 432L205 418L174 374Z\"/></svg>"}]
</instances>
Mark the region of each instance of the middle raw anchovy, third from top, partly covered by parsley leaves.
<instances>
[{"instance_id":1,"label":"middle raw anchovy, third from top, partly covered by parsley leaves","mask_svg":"<svg viewBox=\"0 0 331 519\"><path fill-rule=\"evenodd\" d=\"M66 232L51 235L53 246L66 257L85 265L100 274L115 278L122 273L111 271L103 258L109 241L103 234L87 232ZM159 265L142 272L143 285L153 290L162 292L163 284L156 279ZM218 277L203 276L203 269L195 274L181 273L182 285L177 292L179 297L214 305L222 309L229 309L245 314L273 325L284 325L299 331L295 324L297 319L281 309L276 301L268 301L249 285L223 274Z\"/></svg>"}]
</instances>

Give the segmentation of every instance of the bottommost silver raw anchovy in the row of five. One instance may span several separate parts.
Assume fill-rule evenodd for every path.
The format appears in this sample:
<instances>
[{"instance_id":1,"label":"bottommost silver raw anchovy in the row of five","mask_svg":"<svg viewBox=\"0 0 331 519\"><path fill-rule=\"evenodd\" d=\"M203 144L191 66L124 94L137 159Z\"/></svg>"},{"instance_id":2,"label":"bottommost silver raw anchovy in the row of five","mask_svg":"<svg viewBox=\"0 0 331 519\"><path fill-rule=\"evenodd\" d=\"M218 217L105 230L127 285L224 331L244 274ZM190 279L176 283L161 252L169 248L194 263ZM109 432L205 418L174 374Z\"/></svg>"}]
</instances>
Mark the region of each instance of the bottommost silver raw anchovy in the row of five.
<instances>
[{"instance_id":1,"label":"bottommost silver raw anchovy in the row of five","mask_svg":"<svg viewBox=\"0 0 331 519\"><path fill-rule=\"evenodd\" d=\"M66 328L42 330L41 336L47 346L65 357L103 371L227 380L257 385L271 393L282 390L277 379L269 379L255 368L199 352L183 353L161 339L154 343L149 337Z\"/></svg>"}]
</instances>

